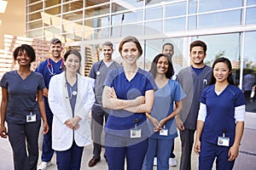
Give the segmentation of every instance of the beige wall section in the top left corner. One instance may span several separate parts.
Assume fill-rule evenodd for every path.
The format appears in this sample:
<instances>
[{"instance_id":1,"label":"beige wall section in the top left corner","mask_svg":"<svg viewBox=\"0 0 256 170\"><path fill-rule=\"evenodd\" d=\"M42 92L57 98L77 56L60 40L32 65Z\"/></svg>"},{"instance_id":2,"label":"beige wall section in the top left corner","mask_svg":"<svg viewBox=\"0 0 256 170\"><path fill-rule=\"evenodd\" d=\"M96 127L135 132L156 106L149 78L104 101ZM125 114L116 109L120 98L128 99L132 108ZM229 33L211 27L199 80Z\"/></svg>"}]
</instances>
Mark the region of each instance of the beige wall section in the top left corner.
<instances>
[{"instance_id":1,"label":"beige wall section in the top left corner","mask_svg":"<svg viewBox=\"0 0 256 170\"><path fill-rule=\"evenodd\" d=\"M0 49L3 49L3 35L26 37L26 0L7 1L5 13L0 13Z\"/></svg>"}]
</instances>

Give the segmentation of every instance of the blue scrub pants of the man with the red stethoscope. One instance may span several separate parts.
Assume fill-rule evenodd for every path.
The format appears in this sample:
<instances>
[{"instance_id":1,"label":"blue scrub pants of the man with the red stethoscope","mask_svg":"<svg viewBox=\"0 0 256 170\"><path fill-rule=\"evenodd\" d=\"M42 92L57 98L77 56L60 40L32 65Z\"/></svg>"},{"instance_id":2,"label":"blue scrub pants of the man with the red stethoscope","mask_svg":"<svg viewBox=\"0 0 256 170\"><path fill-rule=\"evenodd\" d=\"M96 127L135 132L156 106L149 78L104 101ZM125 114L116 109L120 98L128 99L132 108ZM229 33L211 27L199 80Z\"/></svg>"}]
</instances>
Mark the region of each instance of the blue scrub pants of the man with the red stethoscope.
<instances>
[{"instance_id":1,"label":"blue scrub pants of the man with the red stethoscope","mask_svg":"<svg viewBox=\"0 0 256 170\"><path fill-rule=\"evenodd\" d=\"M45 105L45 111L46 111L46 118L49 125L49 131L48 133L44 134L43 139L43 150L42 150L42 161L50 161L52 156L54 155L54 151L51 148L51 129L52 129L52 119L53 119L53 113L49 109L49 104L44 100Z\"/></svg>"}]
</instances>

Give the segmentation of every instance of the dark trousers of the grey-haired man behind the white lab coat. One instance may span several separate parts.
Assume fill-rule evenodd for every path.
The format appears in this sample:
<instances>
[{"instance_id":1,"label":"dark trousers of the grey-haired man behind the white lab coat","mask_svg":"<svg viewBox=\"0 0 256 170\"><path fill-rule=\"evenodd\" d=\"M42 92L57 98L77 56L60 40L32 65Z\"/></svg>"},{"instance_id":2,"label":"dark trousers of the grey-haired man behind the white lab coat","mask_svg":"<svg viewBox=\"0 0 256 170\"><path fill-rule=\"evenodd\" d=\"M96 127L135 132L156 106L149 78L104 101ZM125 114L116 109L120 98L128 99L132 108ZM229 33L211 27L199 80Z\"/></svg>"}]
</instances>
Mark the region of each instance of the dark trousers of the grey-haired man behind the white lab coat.
<instances>
[{"instance_id":1,"label":"dark trousers of the grey-haired man behind the white lab coat","mask_svg":"<svg viewBox=\"0 0 256 170\"><path fill-rule=\"evenodd\" d=\"M93 105L91 109L92 121L91 121L91 134L93 140L93 155L97 159L101 159L102 152L102 128L103 121L105 123L108 120L107 111L103 111L100 105Z\"/></svg>"}]
</instances>

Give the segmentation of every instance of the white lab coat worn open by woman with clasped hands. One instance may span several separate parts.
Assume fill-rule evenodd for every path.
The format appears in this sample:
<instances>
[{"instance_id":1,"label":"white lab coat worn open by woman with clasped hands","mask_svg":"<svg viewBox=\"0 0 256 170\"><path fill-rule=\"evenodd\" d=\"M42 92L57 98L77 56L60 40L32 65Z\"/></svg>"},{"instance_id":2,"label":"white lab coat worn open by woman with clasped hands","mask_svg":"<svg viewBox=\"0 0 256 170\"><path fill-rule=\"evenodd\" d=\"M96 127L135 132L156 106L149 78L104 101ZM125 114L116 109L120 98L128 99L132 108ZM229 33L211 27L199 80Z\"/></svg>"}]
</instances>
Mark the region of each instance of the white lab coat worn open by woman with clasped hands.
<instances>
[{"instance_id":1,"label":"white lab coat worn open by woman with clasped hands","mask_svg":"<svg viewBox=\"0 0 256 170\"><path fill-rule=\"evenodd\" d=\"M79 146L91 144L90 109L95 102L93 92L94 79L78 74L78 94L75 104L74 116L81 117L79 128L72 130L65 122L72 118L72 109L67 94L65 73L55 75L49 82L49 108L53 112L52 122L52 149L68 150L73 140Z\"/></svg>"}]
</instances>

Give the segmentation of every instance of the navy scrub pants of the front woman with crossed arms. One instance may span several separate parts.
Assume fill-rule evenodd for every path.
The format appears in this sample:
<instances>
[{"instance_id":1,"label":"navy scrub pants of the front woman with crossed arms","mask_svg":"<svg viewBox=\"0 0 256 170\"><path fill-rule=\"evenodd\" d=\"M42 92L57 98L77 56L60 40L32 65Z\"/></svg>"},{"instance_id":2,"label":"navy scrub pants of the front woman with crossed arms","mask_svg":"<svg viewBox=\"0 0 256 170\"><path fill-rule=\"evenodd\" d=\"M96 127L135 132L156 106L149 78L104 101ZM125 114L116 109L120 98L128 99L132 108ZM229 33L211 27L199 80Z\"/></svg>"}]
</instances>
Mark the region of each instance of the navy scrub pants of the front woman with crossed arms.
<instances>
[{"instance_id":1,"label":"navy scrub pants of the front woman with crossed arms","mask_svg":"<svg viewBox=\"0 0 256 170\"><path fill-rule=\"evenodd\" d=\"M148 140L130 139L106 133L106 156L108 170L124 170L125 157L127 170L141 170L148 149Z\"/></svg>"}]
</instances>

